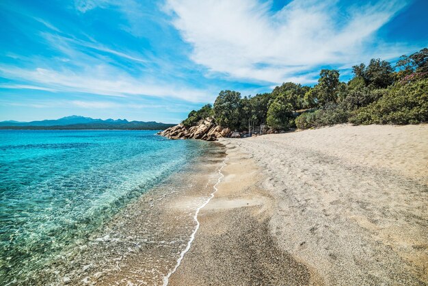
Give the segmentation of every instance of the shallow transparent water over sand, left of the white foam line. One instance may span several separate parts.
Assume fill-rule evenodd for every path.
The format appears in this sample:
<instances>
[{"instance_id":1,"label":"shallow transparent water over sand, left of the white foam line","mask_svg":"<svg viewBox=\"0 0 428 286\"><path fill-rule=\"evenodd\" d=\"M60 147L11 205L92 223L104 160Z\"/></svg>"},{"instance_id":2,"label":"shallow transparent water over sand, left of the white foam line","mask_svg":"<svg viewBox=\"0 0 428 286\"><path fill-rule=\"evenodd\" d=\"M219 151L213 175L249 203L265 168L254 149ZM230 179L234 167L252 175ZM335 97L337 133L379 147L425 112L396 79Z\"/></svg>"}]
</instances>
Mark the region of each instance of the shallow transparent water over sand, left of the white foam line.
<instances>
[{"instance_id":1,"label":"shallow transparent water over sand, left of the white foam line","mask_svg":"<svg viewBox=\"0 0 428 286\"><path fill-rule=\"evenodd\" d=\"M53 285L162 285L197 226L195 213L213 194L224 146L199 157L148 190L34 277Z\"/></svg>"}]
</instances>

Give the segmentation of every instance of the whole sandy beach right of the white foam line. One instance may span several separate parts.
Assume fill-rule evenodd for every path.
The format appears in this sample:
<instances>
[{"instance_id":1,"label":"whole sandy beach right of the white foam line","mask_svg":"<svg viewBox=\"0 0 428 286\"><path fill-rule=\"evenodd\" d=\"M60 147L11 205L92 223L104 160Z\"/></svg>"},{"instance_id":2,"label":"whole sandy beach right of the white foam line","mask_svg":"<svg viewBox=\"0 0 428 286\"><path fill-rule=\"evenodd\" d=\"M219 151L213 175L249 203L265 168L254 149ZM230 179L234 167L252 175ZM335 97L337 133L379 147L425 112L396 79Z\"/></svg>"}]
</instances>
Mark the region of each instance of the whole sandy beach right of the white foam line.
<instances>
[{"instance_id":1,"label":"whole sandy beach right of the white foam line","mask_svg":"<svg viewBox=\"0 0 428 286\"><path fill-rule=\"evenodd\" d=\"M170 285L427 285L428 125L224 139Z\"/></svg>"}]
</instances>

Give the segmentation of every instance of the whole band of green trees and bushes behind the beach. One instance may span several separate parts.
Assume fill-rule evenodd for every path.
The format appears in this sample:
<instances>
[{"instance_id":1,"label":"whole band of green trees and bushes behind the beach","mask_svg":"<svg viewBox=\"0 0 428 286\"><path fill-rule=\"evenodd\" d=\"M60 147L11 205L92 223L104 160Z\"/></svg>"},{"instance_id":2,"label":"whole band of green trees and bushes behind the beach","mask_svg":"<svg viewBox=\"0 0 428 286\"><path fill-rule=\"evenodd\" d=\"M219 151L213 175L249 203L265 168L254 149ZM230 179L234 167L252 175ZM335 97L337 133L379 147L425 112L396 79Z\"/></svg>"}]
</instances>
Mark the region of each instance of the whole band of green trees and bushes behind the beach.
<instances>
[{"instance_id":1,"label":"whole band of green trees and bushes behind the beach","mask_svg":"<svg viewBox=\"0 0 428 286\"><path fill-rule=\"evenodd\" d=\"M308 129L350 122L353 125L428 122L428 49L403 55L393 66L381 59L352 67L340 81L338 70L322 69L315 86L282 83L270 93L241 96L222 90L213 106L189 113L185 127L211 117L221 127L254 132Z\"/></svg>"}]
</instances>

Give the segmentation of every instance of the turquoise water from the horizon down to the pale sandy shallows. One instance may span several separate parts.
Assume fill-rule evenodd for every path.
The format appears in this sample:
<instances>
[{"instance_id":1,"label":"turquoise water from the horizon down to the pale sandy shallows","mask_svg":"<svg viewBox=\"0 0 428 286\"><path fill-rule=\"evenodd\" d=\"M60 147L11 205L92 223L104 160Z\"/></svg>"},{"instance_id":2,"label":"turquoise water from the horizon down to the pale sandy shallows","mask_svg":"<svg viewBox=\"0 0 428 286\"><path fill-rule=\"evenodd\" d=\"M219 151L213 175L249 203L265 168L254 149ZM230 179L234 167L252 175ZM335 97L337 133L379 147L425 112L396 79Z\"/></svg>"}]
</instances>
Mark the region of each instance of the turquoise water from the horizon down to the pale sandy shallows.
<instances>
[{"instance_id":1,"label":"turquoise water from the horizon down to the pale sandy shallows","mask_svg":"<svg viewBox=\"0 0 428 286\"><path fill-rule=\"evenodd\" d=\"M155 131L0 131L0 285L82 243L206 142Z\"/></svg>"}]
</instances>

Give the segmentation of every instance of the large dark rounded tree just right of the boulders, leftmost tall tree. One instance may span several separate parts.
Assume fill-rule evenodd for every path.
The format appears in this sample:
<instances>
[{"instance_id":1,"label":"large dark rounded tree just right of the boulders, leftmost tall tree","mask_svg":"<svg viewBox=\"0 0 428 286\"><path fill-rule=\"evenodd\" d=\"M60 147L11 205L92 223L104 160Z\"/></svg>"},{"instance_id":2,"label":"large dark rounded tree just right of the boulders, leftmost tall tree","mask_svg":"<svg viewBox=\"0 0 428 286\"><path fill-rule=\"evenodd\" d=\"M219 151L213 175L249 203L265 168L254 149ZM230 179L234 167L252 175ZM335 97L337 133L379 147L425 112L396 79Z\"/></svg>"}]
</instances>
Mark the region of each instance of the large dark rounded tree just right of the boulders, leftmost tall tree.
<instances>
[{"instance_id":1,"label":"large dark rounded tree just right of the boulders, leftmost tall tree","mask_svg":"<svg viewBox=\"0 0 428 286\"><path fill-rule=\"evenodd\" d=\"M241 94L232 90L219 92L214 102L214 119L218 125L238 129L240 123Z\"/></svg>"}]
</instances>

